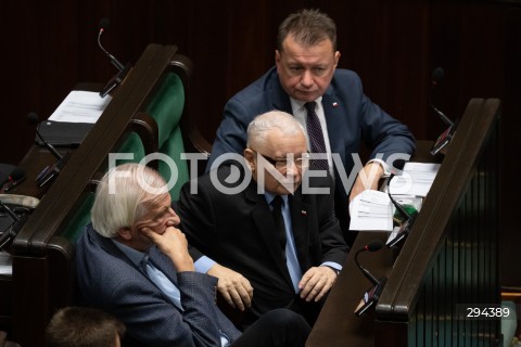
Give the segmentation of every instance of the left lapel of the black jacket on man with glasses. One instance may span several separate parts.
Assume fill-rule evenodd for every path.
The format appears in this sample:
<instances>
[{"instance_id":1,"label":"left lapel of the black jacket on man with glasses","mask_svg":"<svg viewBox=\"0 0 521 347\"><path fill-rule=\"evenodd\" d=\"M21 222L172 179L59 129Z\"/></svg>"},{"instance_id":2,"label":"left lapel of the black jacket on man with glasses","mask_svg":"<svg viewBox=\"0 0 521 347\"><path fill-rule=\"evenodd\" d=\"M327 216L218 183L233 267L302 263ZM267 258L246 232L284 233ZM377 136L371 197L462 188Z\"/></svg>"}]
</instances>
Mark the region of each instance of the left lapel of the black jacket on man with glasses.
<instances>
[{"instance_id":1,"label":"left lapel of the black jacket on man with glasses","mask_svg":"<svg viewBox=\"0 0 521 347\"><path fill-rule=\"evenodd\" d=\"M245 197L246 202L255 204L252 210L253 222L258 230L264 243L266 244L269 256L274 259L277 268L283 274L288 284L293 287L285 259L282 257L279 242L275 233L275 219L271 215L271 210L269 209L266 198L263 194L257 194L255 183L247 187L247 189L245 190Z\"/></svg>"}]
</instances>

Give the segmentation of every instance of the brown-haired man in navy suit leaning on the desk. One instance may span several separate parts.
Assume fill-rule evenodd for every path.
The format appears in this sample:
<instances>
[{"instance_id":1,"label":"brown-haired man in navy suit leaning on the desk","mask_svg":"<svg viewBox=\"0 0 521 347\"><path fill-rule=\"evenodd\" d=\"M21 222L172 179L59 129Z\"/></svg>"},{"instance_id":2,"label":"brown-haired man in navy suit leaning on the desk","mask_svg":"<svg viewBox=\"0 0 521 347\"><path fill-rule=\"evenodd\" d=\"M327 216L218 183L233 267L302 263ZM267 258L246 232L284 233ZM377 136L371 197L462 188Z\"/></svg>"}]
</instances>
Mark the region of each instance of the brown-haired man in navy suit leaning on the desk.
<instances>
[{"instance_id":1,"label":"brown-haired man in navy suit leaning on the desk","mask_svg":"<svg viewBox=\"0 0 521 347\"><path fill-rule=\"evenodd\" d=\"M335 180L336 217L352 245L356 232L348 230L348 202L366 189L378 189L379 180L390 174L387 157L408 158L416 144L405 125L364 94L354 72L336 68L339 60L336 27L327 14L303 10L288 16L279 27L276 66L226 104L206 169L223 154L244 151L245 130L255 116L284 111L312 133L317 129L309 124L313 112L320 123L315 134L321 139L308 136L308 149L312 154L327 153L321 168ZM371 150L366 164L358 156L361 145Z\"/></svg>"}]
</instances>

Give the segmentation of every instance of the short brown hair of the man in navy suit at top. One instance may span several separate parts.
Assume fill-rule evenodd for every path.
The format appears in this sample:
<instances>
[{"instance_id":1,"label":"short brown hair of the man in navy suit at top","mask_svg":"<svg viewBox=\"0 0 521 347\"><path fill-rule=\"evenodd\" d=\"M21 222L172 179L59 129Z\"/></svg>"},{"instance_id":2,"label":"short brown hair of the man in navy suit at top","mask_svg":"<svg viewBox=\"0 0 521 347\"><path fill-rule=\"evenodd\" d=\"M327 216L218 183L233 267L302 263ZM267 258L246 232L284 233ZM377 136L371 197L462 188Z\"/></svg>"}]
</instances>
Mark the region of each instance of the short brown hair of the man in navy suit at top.
<instances>
[{"instance_id":1,"label":"short brown hair of the man in navy suit at top","mask_svg":"<svg viewBox=\"0 0 521 347\"><path fill-rule=\"evenodd\" d=\"M282 42L288 35L293 35L296 42L306 46L329 39L336 50L336 25L326 13L319 10L301 10L290 14L279 26L277 49L282 52Z\"/></svg>"}]
</instances>

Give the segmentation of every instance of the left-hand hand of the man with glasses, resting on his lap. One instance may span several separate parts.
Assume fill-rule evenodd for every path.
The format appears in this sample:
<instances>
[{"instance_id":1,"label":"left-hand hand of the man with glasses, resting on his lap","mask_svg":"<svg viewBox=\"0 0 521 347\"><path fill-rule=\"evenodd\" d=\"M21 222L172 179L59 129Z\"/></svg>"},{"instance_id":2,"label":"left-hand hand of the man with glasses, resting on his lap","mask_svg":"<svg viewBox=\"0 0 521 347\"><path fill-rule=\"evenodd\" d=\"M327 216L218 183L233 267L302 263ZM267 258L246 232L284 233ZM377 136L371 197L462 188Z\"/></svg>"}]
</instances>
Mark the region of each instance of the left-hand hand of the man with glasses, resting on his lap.
<instances>
[{"instance_id":1,"label":"left-hand hand of the man with glasses, resting on his lap","mask_svg":"<svg viewBox=\"0 0 521 347\"><path fill-rule=\"evenodd\" d=\"M218 264L206 273L219 279L217 290L231 307L244 311L252 305L253 287L242 274Z\"/></svg>"}]
</instances>

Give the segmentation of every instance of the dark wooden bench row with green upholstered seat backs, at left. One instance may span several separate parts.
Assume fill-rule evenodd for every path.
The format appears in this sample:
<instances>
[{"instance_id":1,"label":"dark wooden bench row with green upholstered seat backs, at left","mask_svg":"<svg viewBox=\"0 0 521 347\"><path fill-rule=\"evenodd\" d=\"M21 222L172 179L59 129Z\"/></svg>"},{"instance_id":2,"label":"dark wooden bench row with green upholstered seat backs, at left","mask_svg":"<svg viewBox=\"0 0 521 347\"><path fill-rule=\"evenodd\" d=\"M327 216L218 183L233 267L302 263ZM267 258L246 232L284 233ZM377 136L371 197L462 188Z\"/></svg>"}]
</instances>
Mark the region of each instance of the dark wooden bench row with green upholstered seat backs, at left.
<instances>
[{"instance_id":1,"label":"dark wooden bench row with green upholstered seat backs, at left","mask_svg":"<svg viewBox=\"0 0 521 347\"><path fill-rule=\"evenodd\" d=\"M209 150L189 117L191 70L190 60L175 46L150 44L81 144L60 149L71 157L51 184L38 188L34 181L55 162L46 147L31 147L20 163L27 180L10 193L40 202L11 245L12 275L0 275L0 329L10 339L45 346L45 327L52 314L74 303L74 242L90 219L96 180L107 170L110 153L131 153L130 162L152 153L173 158L178 178L170 193L176 198L189 177L180 153ZM148 165L169 179L165 162Z\"/></svg>"}]
</instances>

